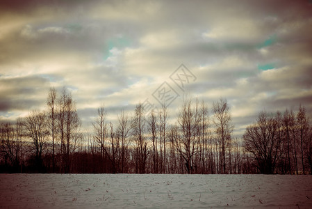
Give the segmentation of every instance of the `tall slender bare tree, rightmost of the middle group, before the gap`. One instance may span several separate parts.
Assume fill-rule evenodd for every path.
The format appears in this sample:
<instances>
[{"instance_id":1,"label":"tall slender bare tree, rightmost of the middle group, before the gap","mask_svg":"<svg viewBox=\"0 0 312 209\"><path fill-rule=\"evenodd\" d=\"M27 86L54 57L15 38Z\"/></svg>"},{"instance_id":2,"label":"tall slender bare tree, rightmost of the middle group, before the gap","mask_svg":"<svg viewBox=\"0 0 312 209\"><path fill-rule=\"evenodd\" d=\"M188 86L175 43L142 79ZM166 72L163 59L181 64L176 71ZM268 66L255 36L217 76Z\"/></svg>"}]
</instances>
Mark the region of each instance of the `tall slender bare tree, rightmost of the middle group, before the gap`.
<instances>
[{"instance_id":1,"label":"tall slender bare tree, rightmost of the middle group, before the gap","mask_svg":"<svg viewBox=\"0 0 312 209\"><path fill-rule=\"evenodd\" d=\"M226 151L231 143L231 132L233 132L233 125L231 125L231 114L229 112L229 104L227 100L220 98L218 102L213 102L213 114L215 124L215 137L220 145L220 171L226 173Z\"/></svg>"}]
</instances>

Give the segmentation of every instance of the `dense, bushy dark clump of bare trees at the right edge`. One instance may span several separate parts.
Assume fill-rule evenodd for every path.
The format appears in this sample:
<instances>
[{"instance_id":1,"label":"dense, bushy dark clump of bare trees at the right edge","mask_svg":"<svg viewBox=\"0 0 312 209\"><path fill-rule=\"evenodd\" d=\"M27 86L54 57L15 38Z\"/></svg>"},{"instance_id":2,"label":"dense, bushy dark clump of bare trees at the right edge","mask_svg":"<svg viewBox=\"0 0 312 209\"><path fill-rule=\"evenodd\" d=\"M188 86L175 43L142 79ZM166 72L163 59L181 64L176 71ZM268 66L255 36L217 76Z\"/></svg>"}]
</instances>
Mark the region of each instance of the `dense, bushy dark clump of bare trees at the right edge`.
<instances>
[{"instance_id":1,"label":"dense, bushy dark clump of bare trees at the right edge","mask_svg":"<svg viewBox=\"0 0 312 209\"><path fill-rule=\"evenodd\" d=\"M312 127L301 105L297 115L261 111L243 140L260 173L312 173Z\"/></svg>"}]
</instances>

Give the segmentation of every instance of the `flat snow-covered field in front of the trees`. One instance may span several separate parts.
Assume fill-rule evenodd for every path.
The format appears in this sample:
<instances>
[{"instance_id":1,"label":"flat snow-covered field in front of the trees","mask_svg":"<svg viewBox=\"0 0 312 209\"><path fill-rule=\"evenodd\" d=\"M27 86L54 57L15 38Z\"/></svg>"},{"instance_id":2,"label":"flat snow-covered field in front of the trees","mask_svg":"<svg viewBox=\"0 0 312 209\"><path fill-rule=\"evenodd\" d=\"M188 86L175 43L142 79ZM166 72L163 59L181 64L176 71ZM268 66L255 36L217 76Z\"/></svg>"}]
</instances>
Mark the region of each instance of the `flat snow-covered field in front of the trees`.
<instances>
[{"instance_id":1,"label":"flat snow-covered field in front of the trees","mask_svg":"<svg viewBox=\"0 0 312 209\"><path fill-rule=\"evenodd\" d=\"M0 208L312 208L312 176L0 174Z\"/></svg>"}]
</instances>

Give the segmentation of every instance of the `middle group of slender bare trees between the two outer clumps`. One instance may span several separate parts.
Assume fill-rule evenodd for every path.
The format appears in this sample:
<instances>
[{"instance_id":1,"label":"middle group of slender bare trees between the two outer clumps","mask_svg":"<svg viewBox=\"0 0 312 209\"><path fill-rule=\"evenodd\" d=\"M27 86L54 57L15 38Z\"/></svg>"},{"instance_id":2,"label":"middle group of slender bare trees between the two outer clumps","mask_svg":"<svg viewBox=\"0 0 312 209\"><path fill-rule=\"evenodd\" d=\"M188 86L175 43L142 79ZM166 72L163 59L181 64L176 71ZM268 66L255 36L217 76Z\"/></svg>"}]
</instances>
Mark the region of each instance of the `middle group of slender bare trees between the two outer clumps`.
<instances>
[{"instance_id":1,"label":"middle group of slender bare trees between the two outer clumps","mask_svg":"<svg viewBox=\"0 0 312 209\"><path fill-rule=\"evenodd\" d=\"M108 159L113 173L242 173L242 148L231 137L227 101L215 102L213 114L211 121L205 102L185 100L176 123L169 123L165 106L146 114L138 104L131 117L121 111L114 128L102 106L87 147L102 162Z\"/></svg>"}]
</instances>

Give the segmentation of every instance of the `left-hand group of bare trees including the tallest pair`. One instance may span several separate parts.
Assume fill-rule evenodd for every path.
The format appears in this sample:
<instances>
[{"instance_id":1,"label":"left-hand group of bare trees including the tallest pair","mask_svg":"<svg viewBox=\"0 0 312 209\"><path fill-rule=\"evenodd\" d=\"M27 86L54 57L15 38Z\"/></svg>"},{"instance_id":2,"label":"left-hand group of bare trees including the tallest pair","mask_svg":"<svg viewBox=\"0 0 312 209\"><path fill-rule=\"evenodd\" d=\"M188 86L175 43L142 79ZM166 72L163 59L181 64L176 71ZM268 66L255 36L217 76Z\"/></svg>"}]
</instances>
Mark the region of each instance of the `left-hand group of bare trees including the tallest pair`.
<instances>
[{"instance_id":1,"label":"left-hand group of bare trees including the tallest pair","mask_svg":"<svg viewBox=\"0 0 312 209\"><path fill-rule=\"evenodd\" d=\"M69 173L70 155L76 150L77 142L83 139L80 129L71 94L63 88L56 98L56 90L51 88L47 111L31 111L25 118L18 118L15 125L1 124L1 166L15 172L19 169L22 172L23 167L46 172L51 164L49 171Z\"/></svg>"}]
</instances>

